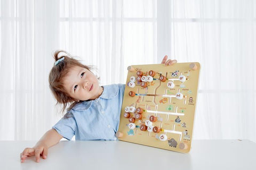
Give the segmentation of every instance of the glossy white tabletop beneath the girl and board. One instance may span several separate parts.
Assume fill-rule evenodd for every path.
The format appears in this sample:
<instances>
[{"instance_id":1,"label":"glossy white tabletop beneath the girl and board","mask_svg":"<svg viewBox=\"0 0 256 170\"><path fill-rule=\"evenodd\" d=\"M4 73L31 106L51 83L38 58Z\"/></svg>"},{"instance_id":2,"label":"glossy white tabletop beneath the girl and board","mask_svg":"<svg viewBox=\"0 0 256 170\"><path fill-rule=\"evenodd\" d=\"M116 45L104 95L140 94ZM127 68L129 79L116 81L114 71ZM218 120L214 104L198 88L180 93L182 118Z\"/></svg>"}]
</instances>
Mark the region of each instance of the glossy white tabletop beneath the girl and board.
<instances>
[{"instance_id":1,"label":"glossy white tabletop beneath the girl and board","mask_svg":"<svg viewBox=\"0 0 256 170\"><path fill-rule=\"evenodd\" d=\"M0 141L0 169L256 169L249 140L194 140L189 154L123 141L60 141L40 163L20 163L20 152L35 143Z\"/></svg>"}]
</instances>

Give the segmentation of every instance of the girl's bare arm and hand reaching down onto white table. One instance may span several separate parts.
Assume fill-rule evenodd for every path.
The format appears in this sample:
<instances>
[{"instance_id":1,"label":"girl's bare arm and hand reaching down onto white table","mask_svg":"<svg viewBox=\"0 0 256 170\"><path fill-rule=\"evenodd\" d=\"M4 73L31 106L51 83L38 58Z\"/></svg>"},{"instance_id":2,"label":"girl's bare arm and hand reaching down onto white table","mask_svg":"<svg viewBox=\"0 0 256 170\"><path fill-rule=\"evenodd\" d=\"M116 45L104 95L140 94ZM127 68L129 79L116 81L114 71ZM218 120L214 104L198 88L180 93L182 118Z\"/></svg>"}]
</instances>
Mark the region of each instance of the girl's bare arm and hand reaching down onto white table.
<instances>
[{"instance_id":1,"label":"girl's bare arm and hand reaching down onto white table","mask_svg":"<svg viewBox=\"0 0 256 170\"><path fill-rule=\"evenodd\" d=\"M36 162L39 162L40 155L46 159L48 148L57 144L62 138L62 135L60 135L55 129L47 131L33 148L26 148L23 150L23 152L20 154L21 163L25 162L27 156L35 155Z\"/></svg>"}]
</instances>

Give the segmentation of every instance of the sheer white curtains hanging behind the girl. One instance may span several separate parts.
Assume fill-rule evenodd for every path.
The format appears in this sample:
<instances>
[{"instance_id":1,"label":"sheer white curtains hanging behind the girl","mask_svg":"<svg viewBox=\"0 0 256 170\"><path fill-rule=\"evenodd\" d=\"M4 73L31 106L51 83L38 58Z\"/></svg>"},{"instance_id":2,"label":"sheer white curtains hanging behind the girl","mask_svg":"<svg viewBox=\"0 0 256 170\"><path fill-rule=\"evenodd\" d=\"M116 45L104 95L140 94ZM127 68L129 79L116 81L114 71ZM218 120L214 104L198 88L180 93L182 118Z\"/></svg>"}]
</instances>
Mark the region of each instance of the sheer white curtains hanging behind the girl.
<instances>
[{"instance_id":1,"label":"sheer white curtains hanging behind the girl","mask_svg":"<svg viewBox=\"0 0 256 170\"><path fill-rule=\"evenodd\" d=\"M38 140L59 120L48 75L63 49L102 85L164 55L200 62L194 139L256 141L255 0L2 0L0 15L0 140Z\"/></svg>"}]
</instances>

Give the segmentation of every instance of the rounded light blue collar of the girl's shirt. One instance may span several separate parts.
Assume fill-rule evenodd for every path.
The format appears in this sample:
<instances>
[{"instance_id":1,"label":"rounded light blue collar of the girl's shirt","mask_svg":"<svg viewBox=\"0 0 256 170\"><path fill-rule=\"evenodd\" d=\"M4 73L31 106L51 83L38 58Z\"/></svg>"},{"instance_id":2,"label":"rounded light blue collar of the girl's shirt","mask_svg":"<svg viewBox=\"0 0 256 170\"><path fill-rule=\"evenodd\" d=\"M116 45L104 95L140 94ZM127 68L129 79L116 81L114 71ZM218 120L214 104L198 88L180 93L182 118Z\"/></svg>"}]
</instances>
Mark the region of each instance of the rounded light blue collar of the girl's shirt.
<instances>
[{"instance_id":1,"label":"rounded light blue collar of the girl's shirt","mask_svg":"<svg viewBox=\"0 0 256 170\"><path fill-rule=\"evenodd\" d=\"M102 87L103 87L103 92L99 96L99 98L111 99L111 98L115 98L118 95L118 92L119 92L118 86L114 86L113 84L110 84ZM95 100L98 100L98 99L83 101L82 103L76 104L72 109L75 111L86 111L91 107L91 105L95 102Z\"/></svg>"}]
</instances>

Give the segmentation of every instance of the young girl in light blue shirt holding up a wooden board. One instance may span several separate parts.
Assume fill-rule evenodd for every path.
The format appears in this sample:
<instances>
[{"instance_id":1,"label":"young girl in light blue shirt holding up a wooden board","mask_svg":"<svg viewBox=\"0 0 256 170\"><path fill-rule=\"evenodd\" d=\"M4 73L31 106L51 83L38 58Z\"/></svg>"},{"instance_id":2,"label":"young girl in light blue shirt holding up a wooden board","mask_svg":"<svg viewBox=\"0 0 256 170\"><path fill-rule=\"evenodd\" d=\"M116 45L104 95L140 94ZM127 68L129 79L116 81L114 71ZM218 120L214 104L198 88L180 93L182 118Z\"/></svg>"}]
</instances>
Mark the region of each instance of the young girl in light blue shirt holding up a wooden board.
<instances>
[{"instance_id":1,"label":"young girl in light blue shirt holding up a wooden board","mask_svg":"<svg viewBox=\"0 0 256 170\"><path fill-rule=\"evenodd\" d=\"M59 53L65 53L59 57ZM62 104L62 113L71 104L67 113L47 131L33 148L20 154L21 163L27 156L46 159L48 148L62 138L71 140L117 140L119 119L125 84L99 86L92 67L81 64L65 51L54 53L55 63L49 75L52 94L57 104ZM176 60L164 56L161 64L172 65Z\"/></svg>"}]
</instances>

